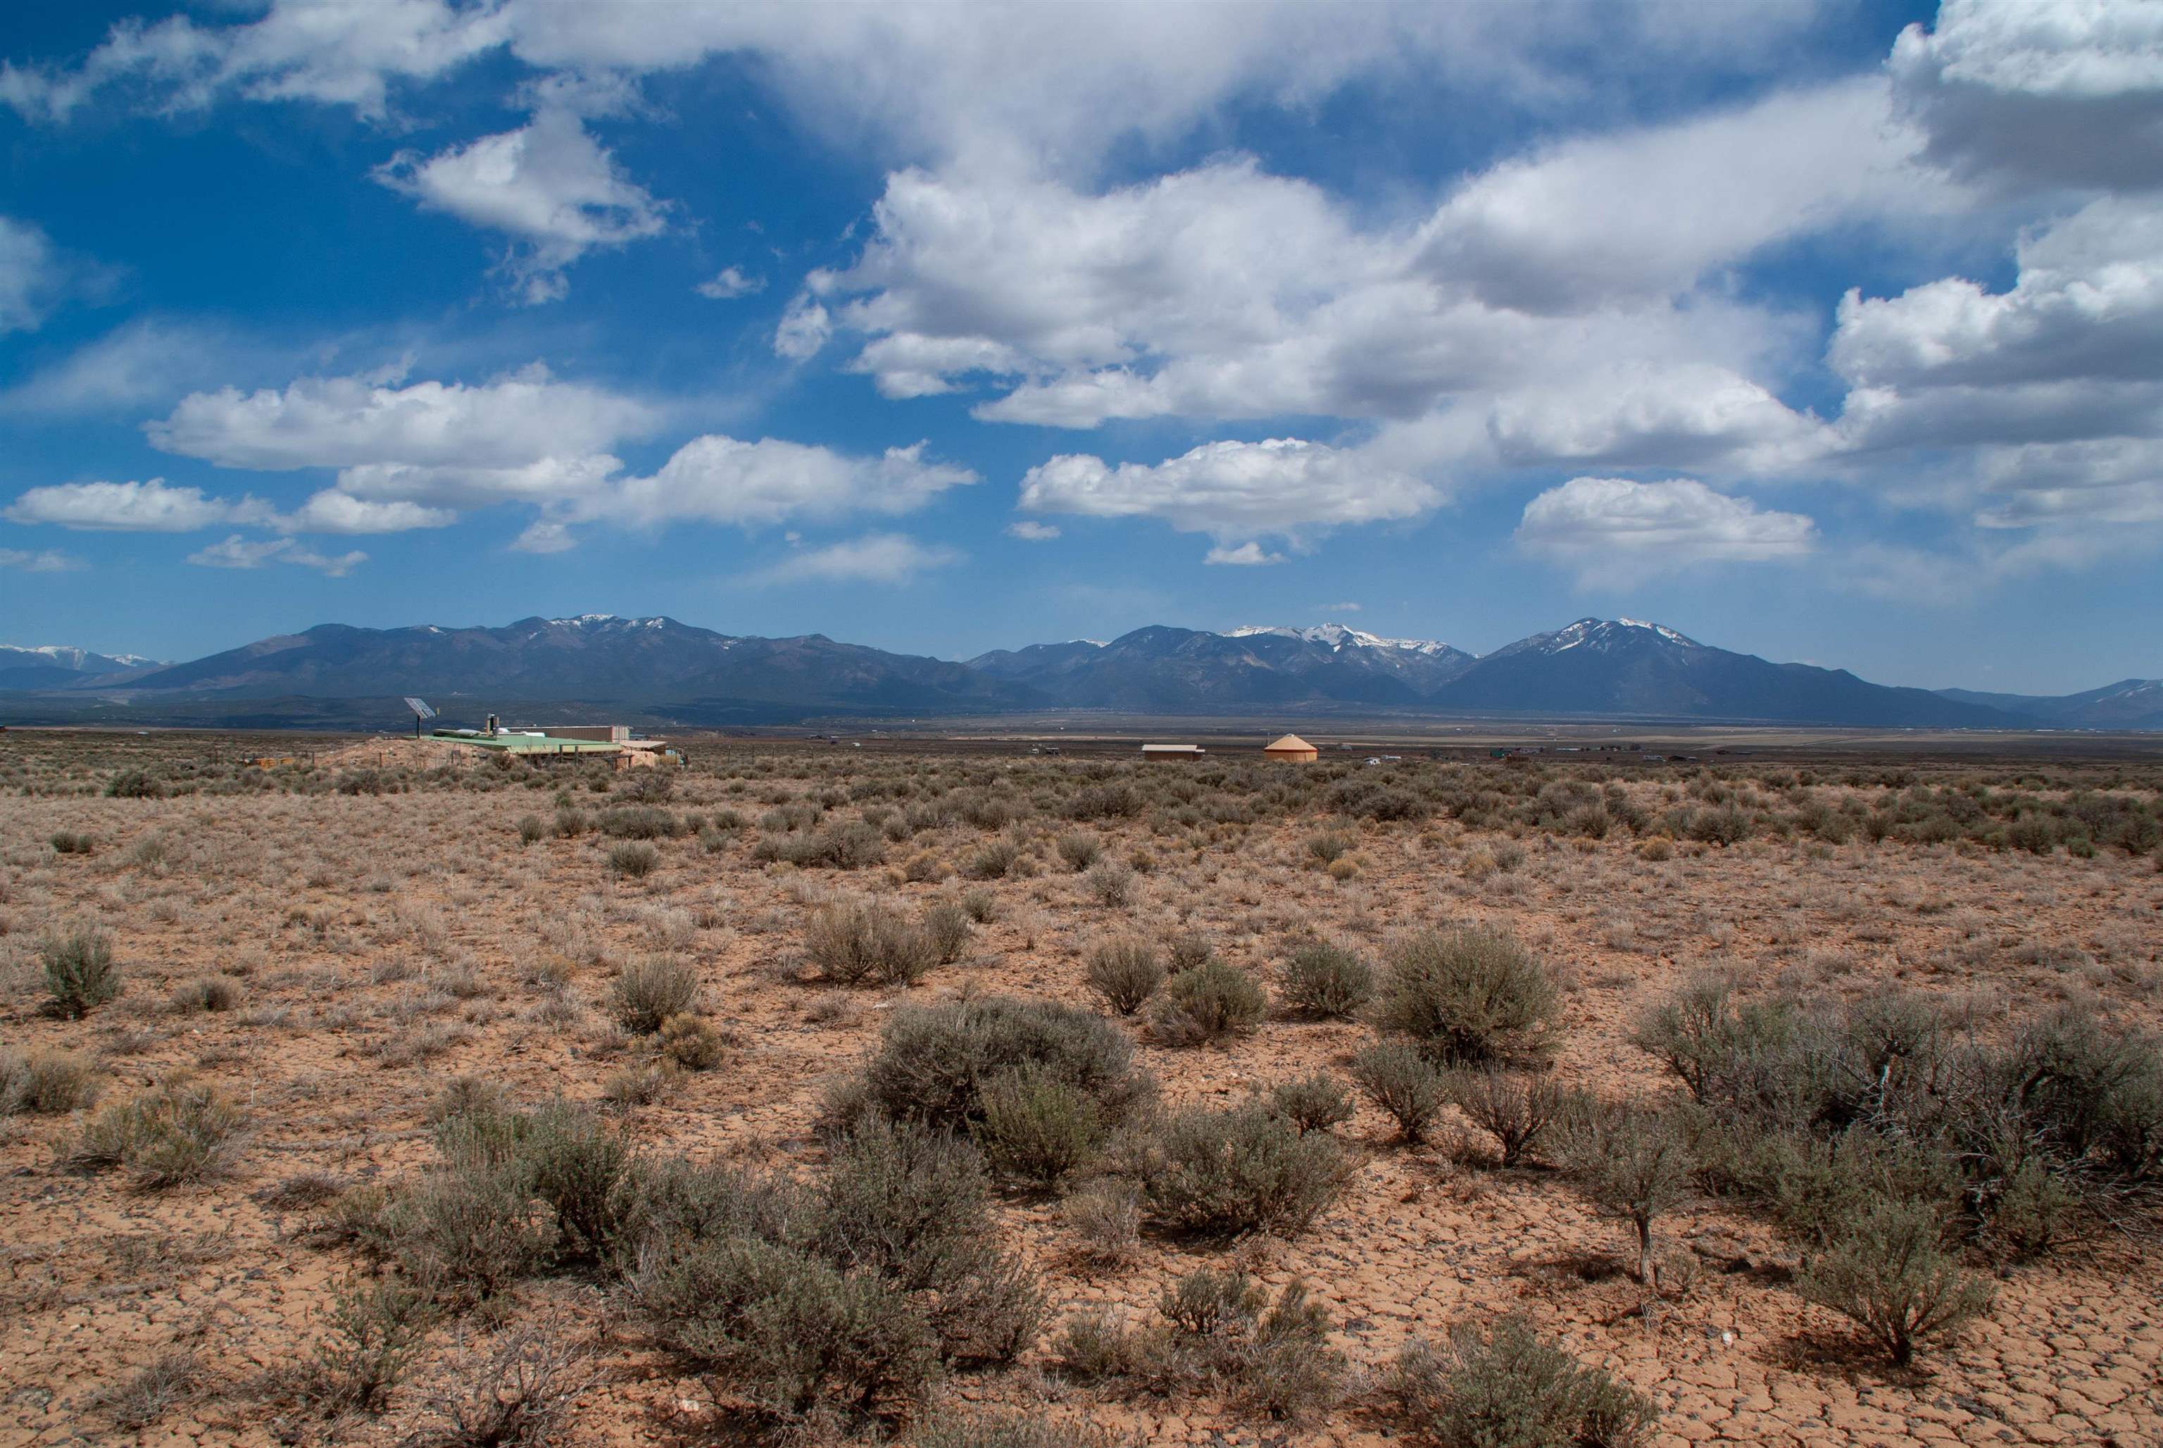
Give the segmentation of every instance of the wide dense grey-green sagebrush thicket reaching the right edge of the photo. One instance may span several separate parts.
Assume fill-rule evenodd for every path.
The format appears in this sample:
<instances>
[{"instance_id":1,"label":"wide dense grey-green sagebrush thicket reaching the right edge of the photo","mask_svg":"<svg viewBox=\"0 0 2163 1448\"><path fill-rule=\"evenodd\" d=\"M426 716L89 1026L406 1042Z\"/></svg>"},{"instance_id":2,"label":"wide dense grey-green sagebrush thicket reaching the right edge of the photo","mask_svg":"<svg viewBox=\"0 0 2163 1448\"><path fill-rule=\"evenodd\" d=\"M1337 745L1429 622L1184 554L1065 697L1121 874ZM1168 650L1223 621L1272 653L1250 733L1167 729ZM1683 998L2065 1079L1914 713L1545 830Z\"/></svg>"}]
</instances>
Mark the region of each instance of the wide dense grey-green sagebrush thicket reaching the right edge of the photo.
<instances>
[{"instance_id":1,"label":"wide dense grey-green sagebrush thicket reaching the right edge of the photo","mask_svg":"<svg viewBox=\"0 0 2163 1448\"><path fill-rule=\"evenodd\" d=\"M1804 1006L1707 978L1637 1041L1700 1104L1707 1182L1804 1242L1886 1199L2012 1258L2163 1223L2163 1054L2089 1006L1975 1039L1906 991Z\"/></svg>"}]
</instances>

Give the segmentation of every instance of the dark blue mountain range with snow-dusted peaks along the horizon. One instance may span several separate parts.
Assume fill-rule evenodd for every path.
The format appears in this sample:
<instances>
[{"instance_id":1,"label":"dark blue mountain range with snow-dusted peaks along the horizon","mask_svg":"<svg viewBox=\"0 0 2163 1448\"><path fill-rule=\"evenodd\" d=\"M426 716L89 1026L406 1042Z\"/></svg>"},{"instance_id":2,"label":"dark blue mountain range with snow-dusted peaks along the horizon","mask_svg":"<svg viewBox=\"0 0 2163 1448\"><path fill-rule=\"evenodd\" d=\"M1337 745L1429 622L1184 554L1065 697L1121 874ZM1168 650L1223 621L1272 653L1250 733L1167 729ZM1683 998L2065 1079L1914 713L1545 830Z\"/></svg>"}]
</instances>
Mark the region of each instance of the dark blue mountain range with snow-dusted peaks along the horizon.
<instances>
[{"instance_id":1,"label":"dark blue mountain range with snow-dusted peaks along the horizon","mask_svg":"<svg viewBox=\"0 0 2163 1448\"><path fill-rule=\"evenodd\" d=\"M662 725L1116 710L2163 729L2163 680L2064 697L1890 688L1640 619L1577 619L1486 656L1324 623L1151 626L950 662L824 634L757 639L614 615L504 628L322 623L173 664L61 647L0 651L0 708L35 721L396 723L400 695L424 695L446 716L552 706Z\"/></svg>"}]
</instances>

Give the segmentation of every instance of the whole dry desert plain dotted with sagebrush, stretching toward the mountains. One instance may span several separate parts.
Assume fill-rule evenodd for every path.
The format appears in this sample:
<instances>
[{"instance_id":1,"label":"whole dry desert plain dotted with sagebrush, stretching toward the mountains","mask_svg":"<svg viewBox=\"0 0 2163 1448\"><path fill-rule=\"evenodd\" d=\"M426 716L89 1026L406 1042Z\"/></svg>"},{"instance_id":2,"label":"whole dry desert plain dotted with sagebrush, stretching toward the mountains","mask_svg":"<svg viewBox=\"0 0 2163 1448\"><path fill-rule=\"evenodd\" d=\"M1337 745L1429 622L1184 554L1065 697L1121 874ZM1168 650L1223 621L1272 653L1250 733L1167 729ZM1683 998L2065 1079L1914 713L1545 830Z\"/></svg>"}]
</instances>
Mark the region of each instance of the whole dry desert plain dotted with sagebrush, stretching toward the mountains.
<instances>
[{"instance_id":1,"label":"whole dry desert plain dotted with sagebrush, stretching toward the mountains","mask_svg":"<svg viewBox=\"0 0 2163 1448\"><path fill-rule=\"evenodd\" d=\"M2163 1030L2163 760L681 747L677 771L612 773L411 740L0 738L0 1442L2163 1444L2163 1108L2133 1100ZM1551 1000L1490 1052L1428 1050L1391 1004L1406 942L1464 937L1505 942ZM1335 948L1343 1000L1289 980L1306 946ZM112 991L74 1013L54 961L84 952ZM1233 998L1168 1013L1151 955L1235 972ZM1092 987L1120 963L1149 987L1131 1013ZM1733 1100L1657 1050L1689 989L1852 1035L1895 1002L1929 1041L1884 1056L1882 1095L1908 1061L1958 1076L1962 1052L2079 1022L2126 1093L2120 1134L2068 1145L2020 1117L2014 1221L2014 1164L1975 1167L1912 1102L1797 1128L1945 1167L1899 1190L1936 1203L1936 1288L1970 1309L1895 1361L1826 1305L1869 1193L1810 1216L1722 1156ZM876 1128L960 1203L967 1271L1001 1279L978 1303L997 1340L963 1351L960 1288L908 1279L941 1223L878 1266L833 1247L822 1184L876 1115L863 1074L893 1035L1008 998L1088 1017L1090 1050L1131 1071L1094 1102L1023 1074L1040 1093L1010 1091L1006 1136L978 1097ZM1438 1082L1419 1141L1361 1087L1389 1043ZM1648 1258L1585 1167L1603 1138L1557 1121L1503 1167L1456 1104L1479 1074L1557 1117L1657 1126L1676 1160ZM1283 1126L1287 1082L1350 1115ZM1077 1102L1086 1121L1060 1117ZM1017 1147L1017 1110L1043 1138ZM463 1167L519 1154L526 1128L502 1123L543 1119L603 1160L599 1193L543 1173L510 1208L456 1197ZM1211 1212L1196 1199L1248 1193L1252 1164L1175 1193L1194 1169L1175 1119L1244 1121L1263 1156L1326 1138L1283 1158L1319 1186ZM2148 1128L2139 1158L2124 1132ZM1906 1160L1869 1156L1888 1182ZM815 1216L759 1251L870 1292L837 1355L917 1357L777 1364L841 1309L789 1299L809 1327L761 1342L781 1290L744 1288L740 1262L714 1268L735 1307L701 1318L666 1279L692 1258L653 1227L658 1188L638 1199L666 1171ZM459 1232L523 1236L482 1268ZM1187 1342L1166 1299L1196 1273L1244 1275L1246 1305ZM1257 1316L1296 1284L1298 1325ZM915 1312L917 1346L872 1342L891 1322L865 1301ZM1458 1361L1454 1329L1477 1355L1497 1325L1642 1413L1467 1437L1471 1379L1423 1398L1406 1348Z\"/></svg>"}]
</instances>

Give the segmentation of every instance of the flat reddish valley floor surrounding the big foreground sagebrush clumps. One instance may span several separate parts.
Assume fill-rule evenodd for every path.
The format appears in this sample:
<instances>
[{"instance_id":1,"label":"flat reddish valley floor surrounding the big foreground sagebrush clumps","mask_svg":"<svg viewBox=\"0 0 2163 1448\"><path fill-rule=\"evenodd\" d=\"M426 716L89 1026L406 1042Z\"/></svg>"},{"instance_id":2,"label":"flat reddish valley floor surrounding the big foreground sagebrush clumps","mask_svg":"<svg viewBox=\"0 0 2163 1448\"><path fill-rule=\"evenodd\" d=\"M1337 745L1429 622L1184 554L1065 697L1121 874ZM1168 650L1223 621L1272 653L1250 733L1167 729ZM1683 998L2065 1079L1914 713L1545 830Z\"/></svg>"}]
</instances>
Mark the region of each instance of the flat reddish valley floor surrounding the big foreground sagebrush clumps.
<instances>
[{"instance_id":1,"label":"flat reddish valley floor surrounding the big foreground sagebrush clumps","mask_svg":"<svg viewBox=\"0 0 2163 1448\"><path fill-rule=\"evenodd\" d=\"M238 764L244 749L0 736L0 1043L15 1069L65 1054L82 1071L76 1104L17 1102L0 1121L4 1444L452 1442L428 1437L446 1403L491 1342L534 1325L582 1364L539 1442L781 1433L664 1348L595 1266L433 1316L379 1400L324 1409L305 1381L335 1342L333 1305L387 1271L327 1223L342 1197L430 1171L430 1123L459 1078L513 1106L586 1104L649 1156L818 1180L822 1102L898 1011L1017 996L1101 1013L1084 961L1120 935L1200 939L1272 991L1259 1026L1209 1045L1168 1045L1146 1015L1116 1022L1166 1106L1348 1080L1376 1026L1287 1013L1287 950L1322 937L1382 963L1395 937L1445 924L1508 931L1549 967L1562 1004L1547 1069L1605 1100L1676 1097L1633 1026L1707 970L1813 1004L1897 987L1981 1039L2068 1004L2120 1032L2163 1028L2163 857L2137 831L2098 838L2163 809L2157 760L1324 762L1287 786L1222 755L1183 775L690 740L688 766L655 784L430 745L318 747L273 768ZM1975 788L1983 820L1947 803ZM1929 822L1940 805L1947 825ZM664 820L610 833L610 812L634 809ZM2022 818L2055 833L2018 833ZM837 859L789 844L854 822ZM647 872L625 844L651 846ZM1094 857L1075 868L1066 851ZM971 924L913 985L841 985L807 959L807 929L850 900L904 918L952 900ZM71 931L99 933L123 980L82 1019L45 1009L43 950ZM696 974L709 1058L677 1065L612 1009L616 974L651 959ZM84 1138L99 1113L175 1082L231 1110L210 1169L177 1184L97 1169ZM1644 1392L1655 1444L2163 1446L2152 1219L2083 1219L2031 1262L1964 1247L1992 1305L1895 1368L1795 1292L1802 1249L1743 1201L1702 1190L1666 1212L1650 1292L1629 1271L1631 1227L1538 1147L1503 1171L1454 1113L1404 1145L1352 1100L1335 1134L1356 1169L1283 1238L1144 1223L1125 1260L1103 1260L1066 1195L999 1186L993 1221L1040 1275L1043 1335L839 1431L908 1439L924 1416L1021 1409L1153 1444L1419 1442L1384 1392L1402 1346L1523 1312ZM1345 1359L1335 1400L1280 1420L1229 1387L1062 1368L1062 1322L1112 1309L1146 1325L1198 1266L1306 1284Z\"/></svg>"}]
</instances>

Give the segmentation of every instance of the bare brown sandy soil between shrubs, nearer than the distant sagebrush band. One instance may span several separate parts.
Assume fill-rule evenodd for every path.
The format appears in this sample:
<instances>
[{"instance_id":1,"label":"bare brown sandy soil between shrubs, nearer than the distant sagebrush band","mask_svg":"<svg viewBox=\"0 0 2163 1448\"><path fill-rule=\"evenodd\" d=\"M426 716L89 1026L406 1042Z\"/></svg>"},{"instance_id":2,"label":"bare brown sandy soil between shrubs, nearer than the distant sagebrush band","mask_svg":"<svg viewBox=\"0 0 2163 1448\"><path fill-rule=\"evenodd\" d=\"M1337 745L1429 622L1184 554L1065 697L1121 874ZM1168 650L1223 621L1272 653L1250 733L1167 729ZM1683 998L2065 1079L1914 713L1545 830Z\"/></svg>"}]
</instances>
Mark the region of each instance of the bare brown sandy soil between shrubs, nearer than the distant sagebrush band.
<instances>
[{"instance_id":1,"label":"bare brown sandy soil between shrubs, nearer than the distant sagebrush band","mask_svg":"<svg viewBox=\"0 0 2163 1448\"><path fill-rule=\"evenodd\" d=\"M413 766L415 751L437 753L370 742L333 766L372 766L374 753ZM757 779L751 794L735 781L731 794L701 773L709 766L694 758L668 807L735 805L755 820L774 794L831 781L828 766L807 762L802 779ZM895 1002L1008 991L1090 1004L1079 957L1114 929L1203 931L1226 959L1270 972L1302 929L1374 952L1410 924L1505 924L1568 985L1557 1071L1607 1095L1670 1089L1629 1045L1629 1024L1709 961L1804 993L1901 983L1986 1028L2072 998L2126 1026L2163 1026L2163 874L2120 851L2076 859L1756 838L1650 861L1629 835L1529 833L1523 864L1488 872L1482 857L1501 835L1449 820L1339 822L1358 838L1356 874L1339 881L1304 848L1324 825L1315 816L1170 840L1144 822L1090 825L1112 857L1153 855L1133 900L1105 907L1049 844L1071 827L1034 818L1012 833L1040 872L980 885L999 913L960 963L906 991L841 996L796 972L802 922L820 900L861 892L924 903L958 883L904 883L891 866L757 866L757 829L718 851L666 840L662 866L627 881L606 868L601 835L521 844L523 814L547 818L549 794L0 799L0 1037L95 1054L106 1102L190 1067L249 1113L231 1175L162 1193L65 1164L87 1113L0 1121L0 1442L266 1444L290 1433L264 1374L307 1357L331 1288L357 1264L348 1249L301 1240L307 1212L257 1195L303 1173L353 1186L415 1171L433 1154L424 1110L456 1074L497 1080L521 1102L599 1102L603 1082L645 1052L601 1009L612 963L638 952L694 961L735 1045L720 1069L686 1074L664 1100L629 1108L636 1138L807 1171L822 1160L811 1130L822 1089L876 1041ZM95 848L54 853L54 831L84 831ZM950 827L889 857L960 861L982 838ZM145 840L164 842L162 859L136 848ZM50 1019L35 942L74 920L110 933L128 989L89 1019ZM547 963L569 965L565 991L545 983ZM169 1009L175 985L210 974L240 985L236 1009ZM1237 1100L1313 1069L1341 1074L1371 1035L1272 1017L1224 1050L1164 1050L1144 1037L1140 1056L1172 1102ZM1296 1240L1231 1255L1268 1284L1304 1279L1328 1307L1356 1368L1345 1407L1274 1424L1226 1403L1118 1396L1060 1381L1043 1348L1014 1370L963 1374L945 1394L1086 1416L1162 1444L1380 1444L1402 1429L1361 1385L1408 1335L1525 1307L1573 1353L1650 1394L1659 1444L2163 1446L2163 1264L2128 1238L2100 1234L2048 1262L1999 1268L1986 1320L1890 1370L1841 1318L1795 1296L1789 1249L1748 1214L1696 1201L1666 1219L1661 1249L1678 1286L1648 1303L1622 1273L1627 1227L1596 1216L1555 1173L1492 1171L1449 1141L1391 1145L1386 1119L1365 1104L1341 1132L1363 1167L1339 1203ZM1144 1236L1131 1266L1097 1271L1077 1264L1056 1203L1008 1197L999 1216L1045 1271L1053 1320L1110 1305L1140 1322L1168 1277L1226 1255ZM543 1309L569 1314L601 1344L603 1377L560 1442L712 1435L696 1379L603 1288L558 1277L513 1292L510 1316ZM407 1437L430 1385L456 1372L461 1340L482 1331L435 1329L387 1413L340 1424L335 1442ZM175 1351L197 1357L197 1390L149 1429L119 1433L99 1392Z\"/></svg>"}]
</instances>

